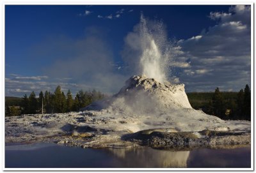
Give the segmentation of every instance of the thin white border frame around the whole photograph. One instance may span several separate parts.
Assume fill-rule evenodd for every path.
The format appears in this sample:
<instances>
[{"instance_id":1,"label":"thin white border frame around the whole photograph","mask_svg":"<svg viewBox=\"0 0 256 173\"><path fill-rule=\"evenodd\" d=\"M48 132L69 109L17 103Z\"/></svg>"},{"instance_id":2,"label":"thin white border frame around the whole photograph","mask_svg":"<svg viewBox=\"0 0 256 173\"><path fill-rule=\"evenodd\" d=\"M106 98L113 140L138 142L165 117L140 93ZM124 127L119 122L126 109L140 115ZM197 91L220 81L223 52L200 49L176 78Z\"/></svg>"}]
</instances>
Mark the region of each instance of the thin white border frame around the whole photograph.
<instances>
[{"instance_id":1,"label":"thin white border frame around the whole photograph","mask_svg":"<svg viewBox=\"0 0 256 173\"><path fill-rule=\"evenodd\" d=\"M2 140L2 142L1 142L1 145L2 145L2 147L1 147L1 149L2 149L2 153L3 153L3 155L2 155L2 170L29 170L29 171L31 171L31 170L44 170L44 171L49 171L49 170L53 170L53 171L55 171L55 170L91 170L91 171L102 171L102 170L130 170L130 171L134 171L134 170L139 170L139 171L141 171L141 170L154 170L154 171L159 171L159 170L161 170L161 171L166 171L166 170L214 170L214 171L218 171L218 170L225 170L225 171L227 171L227 170L236 170L236 171L242 171L242 170L254 170L254 162L255 162L255 160L253 159L254 158L254 75L255 75L255 71L254 71L254 4L252 3L252 1L248 1L247 3L246 2L244 2L244 3L241 3L241 2L236 2L236 1L227 1L227 2L225 2L225 3L223 3L223 1L221 1L221 0L218 0L218 1L216 1L216 2L208 2L208 3L205 3L205 2L194 2L194 3L192 3L191 1L184 1L184 0L182 0L182 1L179 1L179 2L172 2L172 3L170 3L170 1L166 1L166 0L162 0L161 2L157 2L156 3L156 0L150 0L150 1L147 1L147 3L145 2L145 1L140 1L140 2L138 2L138 1L136 1L136 0L129 0L129 2L127 2L127 1L123 1L123 2L120 2L120 1L118 1L118 0L112 0L112 1L109 1L108 3L106 3L106 2L102 2L102 1L94 1L94 2L92 2L92 1L88 1L88 0L86 0L86 1L83 1L83 0L76 0L76 2L70 2L71 0L55 0L55 2L52 2L51 0L45 0L44 1L44 3L43 2L35 2L35 1L33 1L33 0L27 0L26 2L22 2L22 1L20 1L20 0L10 0L10 1L6 1L6 0L3 0L2 1L2 6L1 6L1 10L2 10L2 13L0 13L0 19L2 19L2 22L1 22L1 28L3 29L2 30L2 35L1 35L1 37L2 37L2 41L1 41L1 49L0 50L2 50L2 69L3 70L1 70L1 77L2 77L2 80L1 80L1 82L2 82L2 85L1 85L1 93L0 93L0 96L1 96L1 105L0 105L0 108L1 108L1 110L2 110L2 118L1 118L1 124L2 124L2 133L1 133L1 139L3 139ZM14 168L5 168L5 163L4 163L4 77L5 77L5 61L4 61L4 59L5 59L5 54L4 54L4 27L5 27L5 25L4 25L4 17L5 17L5 13L4 13L4 11L5 11L5 5L11 5L11 4L17 4L17 5L21 5L21 4L24 4L24 5L29 5L29 4L34 4L34 5L42 5L42 4L44 4L44 5L47 5L47 4L49 4L49 5L52 5L52 4L56 4L56 5L72 5L72 4L74 4L74 5L79 5L79 4L81 4L81 5L86 5L86 4L95 4L95 5L102 5L102 4L108 4L108 5L157 5L157 4L162 4L162 5L164 5L164 4L166 4L166 5L192 5L192 4L195 4L195 5L234 5L234 4L248 4L248 5L251 5L251 91L252 91L252 95L253 96L251 96L251 112L252 112L252 120L251 120L251 168L243 168L243 169L234 169L234 168L228 168L228 169L225 169L225 168L211 168L211 169L200 169L200 168L196 168L196 169L191 169L191 168L150 168L150 169L148 169L148 168L104 168L104 169L99 169L99 168L83 168L83 169L80 169L80 168L72 168L72 169L59 169L59 168L50 168L50 169L34 169L34 168L31 168L31 169L29 169L29 168L26 168L26 169L14 169Z\"/></svg>"}]
</instances>

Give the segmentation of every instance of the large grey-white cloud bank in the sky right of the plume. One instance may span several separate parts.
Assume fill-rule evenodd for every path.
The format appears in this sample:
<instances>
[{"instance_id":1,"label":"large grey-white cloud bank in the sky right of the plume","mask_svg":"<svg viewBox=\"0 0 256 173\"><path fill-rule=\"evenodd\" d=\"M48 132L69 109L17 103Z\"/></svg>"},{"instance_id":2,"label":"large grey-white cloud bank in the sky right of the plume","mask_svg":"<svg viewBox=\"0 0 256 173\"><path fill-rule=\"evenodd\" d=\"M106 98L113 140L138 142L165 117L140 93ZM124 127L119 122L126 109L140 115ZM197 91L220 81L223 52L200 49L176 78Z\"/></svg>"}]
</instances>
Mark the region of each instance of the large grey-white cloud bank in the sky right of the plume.
<instances>
[{"instance_id":1,"label":"large grey-white cloud bank in the sky right of the plume","mask_svg":"<svg viewBox=\"0 0 256 173\"><path fill-rule=\"evenodd\" d=\"M232 6L227 13L211 12L215 26L198 36L178 41L190 63L179 78L188 91L238 91L250 84L250 6Z\"/></svg>"}]
</instances>

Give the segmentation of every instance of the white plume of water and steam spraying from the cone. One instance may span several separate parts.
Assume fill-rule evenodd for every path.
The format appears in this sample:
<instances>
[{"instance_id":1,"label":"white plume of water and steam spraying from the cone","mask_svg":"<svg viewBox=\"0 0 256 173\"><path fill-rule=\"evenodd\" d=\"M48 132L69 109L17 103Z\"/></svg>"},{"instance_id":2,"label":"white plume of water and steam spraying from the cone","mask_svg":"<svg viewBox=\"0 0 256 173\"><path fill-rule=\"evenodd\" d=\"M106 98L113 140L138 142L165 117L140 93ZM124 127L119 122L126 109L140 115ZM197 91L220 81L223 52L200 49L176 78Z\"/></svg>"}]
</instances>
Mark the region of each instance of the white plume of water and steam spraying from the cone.
<instances>
[{"instance_id":1,"label":"white plume of water and steam spraying from the cone","mask_svg":"<svg viewBox=\"0 0 256 173\"><path fill-rule=\"evenodd\" d=\"M133 68L132 73L161 83L168 80L175 50L167 38L163 22L146 20L141 14L140 24L125 38L123 57Z\"/></svg>"}]
</instances>

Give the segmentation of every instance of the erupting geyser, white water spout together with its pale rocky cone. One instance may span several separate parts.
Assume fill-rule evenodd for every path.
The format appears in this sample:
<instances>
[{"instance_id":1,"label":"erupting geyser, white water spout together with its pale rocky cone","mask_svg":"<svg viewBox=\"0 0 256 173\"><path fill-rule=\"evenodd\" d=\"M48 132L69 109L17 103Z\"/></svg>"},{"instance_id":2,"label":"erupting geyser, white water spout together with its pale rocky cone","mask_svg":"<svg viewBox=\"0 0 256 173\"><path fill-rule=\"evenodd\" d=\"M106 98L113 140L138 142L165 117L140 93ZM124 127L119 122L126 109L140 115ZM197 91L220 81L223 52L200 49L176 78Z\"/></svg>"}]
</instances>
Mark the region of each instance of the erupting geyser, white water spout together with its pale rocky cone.
<instances>
[{"instance_id":1,"label":"erupting geyser, white water spout together with its pale rocky cone","mask_svg":"<svg viewBox=\"0 0 256 173\"><path fill-rule=\"evenodd\" d=\"M126 38L127 48L141 75L131 77L112 98L93 103L86 109L122 109L136 114L160 114L191 109L184 84L168 82L172 59L172 44L167 40L163 22L146 20L141 14L140 24ZM137 61L137 62L136 62ZM135 67L136 68L136 67Z\"/></svg>"}]
</instances>

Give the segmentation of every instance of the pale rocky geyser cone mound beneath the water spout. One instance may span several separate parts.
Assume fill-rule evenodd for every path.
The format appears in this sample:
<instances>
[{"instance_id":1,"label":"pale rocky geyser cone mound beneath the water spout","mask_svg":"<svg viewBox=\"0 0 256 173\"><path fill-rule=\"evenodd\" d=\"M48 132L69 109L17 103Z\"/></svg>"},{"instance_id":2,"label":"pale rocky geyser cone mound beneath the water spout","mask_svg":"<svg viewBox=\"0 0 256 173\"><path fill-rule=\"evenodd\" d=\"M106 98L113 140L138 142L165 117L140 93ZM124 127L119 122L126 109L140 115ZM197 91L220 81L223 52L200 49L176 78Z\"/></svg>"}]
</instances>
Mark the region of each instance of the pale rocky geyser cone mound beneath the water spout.
<instances>
[{"instance_id":1,"label":"pale rocky geyser cone mound beneath the water spout","mask_svg":"<svg viewBox=\"0 0 256 173\"><path fill-rule=\"evenodd\" d=\"M145 75L133 76L113 97L93 103L86 110L120 109L128 112L161 113L176 109L191 109L184 84L160 83Z\"/></svg>"}]
</instances>

